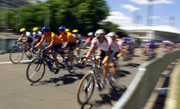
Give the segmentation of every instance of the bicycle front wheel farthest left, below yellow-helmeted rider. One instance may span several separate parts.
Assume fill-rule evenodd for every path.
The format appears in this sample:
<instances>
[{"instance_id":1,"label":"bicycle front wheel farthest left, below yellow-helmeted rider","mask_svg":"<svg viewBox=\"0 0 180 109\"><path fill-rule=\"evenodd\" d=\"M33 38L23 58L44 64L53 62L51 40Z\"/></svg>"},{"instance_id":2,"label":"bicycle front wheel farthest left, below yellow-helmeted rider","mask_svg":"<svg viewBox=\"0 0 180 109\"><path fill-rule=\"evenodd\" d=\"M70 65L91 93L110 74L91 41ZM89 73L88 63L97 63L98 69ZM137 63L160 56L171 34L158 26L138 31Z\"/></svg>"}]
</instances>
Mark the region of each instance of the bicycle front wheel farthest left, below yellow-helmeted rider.
<instances>
[{"instance_id":1,"label":"bicycle front wheel farthest left, below yellow-helmeted rider","mask_svg":"<svg viewBox=\"0 0 180 109\"><path fill-rule=\"evenodd\" d=\"M13 64L20 63L23 59L24 51L19 47L14 47L9 55L9 59Z\"/></svg>"}]
</instances>

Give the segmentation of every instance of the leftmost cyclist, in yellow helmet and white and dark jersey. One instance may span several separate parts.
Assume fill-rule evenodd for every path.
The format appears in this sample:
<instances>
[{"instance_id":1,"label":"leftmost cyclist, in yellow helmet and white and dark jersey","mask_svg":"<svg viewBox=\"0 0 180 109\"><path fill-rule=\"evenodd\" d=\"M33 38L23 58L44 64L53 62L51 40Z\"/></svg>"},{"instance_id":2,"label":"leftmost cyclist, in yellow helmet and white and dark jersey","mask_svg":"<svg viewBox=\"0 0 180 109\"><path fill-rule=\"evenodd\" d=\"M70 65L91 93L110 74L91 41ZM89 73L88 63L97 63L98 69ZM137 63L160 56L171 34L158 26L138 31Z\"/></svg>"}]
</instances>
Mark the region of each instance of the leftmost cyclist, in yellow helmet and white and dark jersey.
<instances>
[{"instance_id":1,"label":"leftmost cyclist, in yellow helmet and white and dark jersey","mask_svg":"<svg viewBox=\"0 0 180 109\"><path fill-rule=\"evenodd\" d=\"M33 46L34 38L30 32L26 31L26 28L20 29L21 36L16 40L15 43L22 41L24 44L28 44L28 51L30 52L31 47Z\"/></svg>"}]
</instances>

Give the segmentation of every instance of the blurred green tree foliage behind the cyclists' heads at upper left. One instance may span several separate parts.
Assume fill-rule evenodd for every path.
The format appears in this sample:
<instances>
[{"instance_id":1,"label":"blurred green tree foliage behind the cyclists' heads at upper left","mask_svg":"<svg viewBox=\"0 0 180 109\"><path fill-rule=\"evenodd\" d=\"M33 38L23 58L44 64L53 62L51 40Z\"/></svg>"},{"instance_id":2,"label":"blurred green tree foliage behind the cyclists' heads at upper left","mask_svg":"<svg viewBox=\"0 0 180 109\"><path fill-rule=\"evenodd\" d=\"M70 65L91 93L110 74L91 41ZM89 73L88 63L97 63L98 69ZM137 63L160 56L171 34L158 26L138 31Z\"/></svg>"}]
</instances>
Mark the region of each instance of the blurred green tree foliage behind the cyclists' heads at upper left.
<instances>
[{"instance_id":1,"label":"blurred green tree foliage behind the cyclists' heads at upper left","mask_svg":"<svg viewBox=\"0 0 180 109\"><path fill-rule=\"evenodd\" d=\"M48 0L37 5L9 10L8 25L18 29L25 27L29 31L33 27L49 25L52 31L57 32L59 26L65 25L71 30L77 28L84 34L98 28L121 32L115 24L99 24L108 15L109 8L104 0ZM0 22L6 18L2 16L1 10L0 18Z\"/></svg>"}]
</instances>

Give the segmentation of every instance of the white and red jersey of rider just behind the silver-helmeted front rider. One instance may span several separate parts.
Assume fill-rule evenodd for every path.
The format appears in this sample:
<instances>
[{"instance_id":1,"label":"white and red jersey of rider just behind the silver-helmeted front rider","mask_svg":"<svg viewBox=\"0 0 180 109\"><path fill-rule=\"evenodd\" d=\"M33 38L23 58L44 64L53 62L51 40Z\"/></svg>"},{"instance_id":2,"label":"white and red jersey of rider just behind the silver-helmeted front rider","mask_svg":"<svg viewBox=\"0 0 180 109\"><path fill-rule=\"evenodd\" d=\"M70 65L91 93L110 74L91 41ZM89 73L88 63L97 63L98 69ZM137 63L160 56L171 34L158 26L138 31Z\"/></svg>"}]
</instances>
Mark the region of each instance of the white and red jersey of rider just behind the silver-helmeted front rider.
<instances>
[{"instance_id":1,"label":"white and red jersey of rider just behind the silver-helmeted front rider","mask_svg":"<svg viewBox=\"0 0 180 109\"><path fill-rule=\"evenodd\" d=\"M112 40L110 37L107 37L110 50L119 52L122 49L123 41L121 39L116 38L115 40Z\"/></svg>"}]
</instances>

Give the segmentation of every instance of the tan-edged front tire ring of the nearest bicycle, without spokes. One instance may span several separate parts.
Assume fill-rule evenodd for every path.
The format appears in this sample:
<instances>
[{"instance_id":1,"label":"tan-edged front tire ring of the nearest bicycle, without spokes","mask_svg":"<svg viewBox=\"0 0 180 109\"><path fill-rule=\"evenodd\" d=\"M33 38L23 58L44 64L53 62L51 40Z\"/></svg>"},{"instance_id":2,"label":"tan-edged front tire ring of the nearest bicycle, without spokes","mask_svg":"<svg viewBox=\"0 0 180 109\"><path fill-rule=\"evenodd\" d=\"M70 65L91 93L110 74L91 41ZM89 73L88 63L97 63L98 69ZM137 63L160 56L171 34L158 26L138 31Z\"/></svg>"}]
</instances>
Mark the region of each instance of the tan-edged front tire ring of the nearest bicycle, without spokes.
<instances>
[{"instance_id":1,"label":"tan-edged front tire ring of the nearest bicycle, without spokes","mask_svg":"<svg viewBox=\"0 0 180 109\"><path fill-rule=\"evenodd\" d=\"M87 89L87 87L85 87L86 90L84 90L83 83L85 82L85 80L87 80L85 85L86 86L91 86L92 85L91 86L92 89L90 91L89 96L87 96L87 94L86 94L85 100L82 100L81 97L80 97L81 88L83 87L83 91L89 90L89 89ZM88 83L89 83L89 85L87 85ZM87 74L85 74L83 76L83 78L81 79L81 81L80 81L80 83L78 85L78 89L77 89L77 101L78 101L79 104L85 104L85 103L87 103L90 100L90 98L92 97L92 94L94 92L94 86L95 86L95 84L94 84L94 77L92 75L92 72L88 72ZM88 91L88 93L89 93L89 91Z\"/></svg>"}]
</instances>

